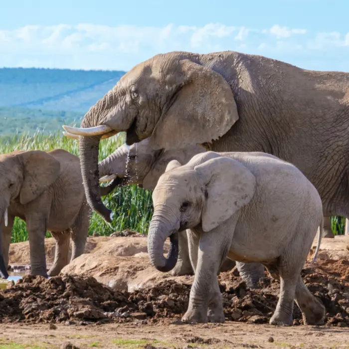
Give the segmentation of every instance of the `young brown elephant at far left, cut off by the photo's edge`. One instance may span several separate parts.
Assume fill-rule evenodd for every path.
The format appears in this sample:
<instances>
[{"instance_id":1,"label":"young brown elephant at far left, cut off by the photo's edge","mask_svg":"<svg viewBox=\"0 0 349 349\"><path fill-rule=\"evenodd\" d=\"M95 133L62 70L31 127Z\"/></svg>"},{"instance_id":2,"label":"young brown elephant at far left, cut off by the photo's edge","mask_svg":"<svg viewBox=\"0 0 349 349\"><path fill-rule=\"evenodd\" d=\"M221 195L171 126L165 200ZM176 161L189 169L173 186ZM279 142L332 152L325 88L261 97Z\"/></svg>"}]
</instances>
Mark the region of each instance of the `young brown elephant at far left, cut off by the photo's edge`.
<instances>
[{"instance_id":1,"label":"young brown elephant at far left, cut off by the photo's edge","mask_svg":"<svg viewBox=\"0 0 349 349\"><path fill-rule=\"evenodd\" d=\"M79 158L61 149L0 155L0 273L3 278L8 277L14 217L26 222L32 275L47 276L46 231L56 239L54 263L48 272L54 276L69 263L70 235L71 260L84 252L90 215Z\"/></svg>"}]
</instances>

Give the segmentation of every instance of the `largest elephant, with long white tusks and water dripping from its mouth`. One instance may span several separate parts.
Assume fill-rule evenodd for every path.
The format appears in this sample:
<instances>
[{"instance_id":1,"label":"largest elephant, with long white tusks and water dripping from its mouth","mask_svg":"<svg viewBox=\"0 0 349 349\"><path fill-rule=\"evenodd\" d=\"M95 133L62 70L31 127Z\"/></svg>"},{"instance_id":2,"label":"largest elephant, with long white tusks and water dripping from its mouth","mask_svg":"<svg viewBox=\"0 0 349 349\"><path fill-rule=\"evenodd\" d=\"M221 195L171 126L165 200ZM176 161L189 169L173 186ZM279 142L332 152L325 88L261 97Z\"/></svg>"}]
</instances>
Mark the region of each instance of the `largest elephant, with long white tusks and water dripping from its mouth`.
<instances>
[{"instance_id":1,"label":"largest elephant, with long white tusks and water dripping from its mouth","mask_svg":"<svg viewBox=\"0 0 349 349\"><path fill-rule=\"evenodd\" d=\"M156 55L92 106L81 128L64 126L81 136L87 200L108 222L98 185L99 142L122 131L128 145L150 137L153 149L202 144L216 152L273 154L315 185L325 216L349 217L348 128L349 73L234 51Z\"/></svg>"}]
</instances>

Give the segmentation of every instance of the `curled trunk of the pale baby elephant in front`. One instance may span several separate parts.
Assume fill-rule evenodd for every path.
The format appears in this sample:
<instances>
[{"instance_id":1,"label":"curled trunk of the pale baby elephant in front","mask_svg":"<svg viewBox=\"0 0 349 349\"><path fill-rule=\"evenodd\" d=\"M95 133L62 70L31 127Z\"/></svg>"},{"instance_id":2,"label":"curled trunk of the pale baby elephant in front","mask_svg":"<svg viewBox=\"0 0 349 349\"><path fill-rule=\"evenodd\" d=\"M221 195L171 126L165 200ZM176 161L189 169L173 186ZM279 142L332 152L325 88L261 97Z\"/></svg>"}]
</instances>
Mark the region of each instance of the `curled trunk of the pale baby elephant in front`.
<instances>
[{"instance_id":1,"label":"curled trunk of the pale baby elephant in front","mask_svg":"<svg viewBox=\"0 0 349 349\"><path fill-rule=\"evenodd\" d=\"M164 244L170 236L170 252L165 258ZM178 231L169 229L162 218L152 218L148 232L148 253L152 265L162 272L169 272L174 268L178 259Z\"/></svg>"}]
</instances>

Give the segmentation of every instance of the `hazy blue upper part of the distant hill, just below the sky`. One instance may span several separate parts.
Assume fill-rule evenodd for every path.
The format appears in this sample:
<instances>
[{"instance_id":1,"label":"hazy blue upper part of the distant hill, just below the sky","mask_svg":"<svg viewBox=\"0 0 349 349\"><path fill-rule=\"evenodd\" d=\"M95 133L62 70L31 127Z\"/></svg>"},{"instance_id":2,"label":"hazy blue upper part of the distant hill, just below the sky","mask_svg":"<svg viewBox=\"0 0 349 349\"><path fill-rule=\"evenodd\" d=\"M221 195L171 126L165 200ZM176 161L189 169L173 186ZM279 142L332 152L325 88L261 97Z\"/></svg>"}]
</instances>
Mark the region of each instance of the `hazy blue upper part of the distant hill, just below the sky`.
<instances>
[{"instance_id":1,"label":"hazy blue upper part of the distant hill, just below the sky","mask_svg":"<svg viewBox=\"0 0 349 349\"><path fill-rule=\"evenodd\" d=\"M124 74L124 71L1 68L0 107L86 113Z\"/></svg>"}]
</instances>

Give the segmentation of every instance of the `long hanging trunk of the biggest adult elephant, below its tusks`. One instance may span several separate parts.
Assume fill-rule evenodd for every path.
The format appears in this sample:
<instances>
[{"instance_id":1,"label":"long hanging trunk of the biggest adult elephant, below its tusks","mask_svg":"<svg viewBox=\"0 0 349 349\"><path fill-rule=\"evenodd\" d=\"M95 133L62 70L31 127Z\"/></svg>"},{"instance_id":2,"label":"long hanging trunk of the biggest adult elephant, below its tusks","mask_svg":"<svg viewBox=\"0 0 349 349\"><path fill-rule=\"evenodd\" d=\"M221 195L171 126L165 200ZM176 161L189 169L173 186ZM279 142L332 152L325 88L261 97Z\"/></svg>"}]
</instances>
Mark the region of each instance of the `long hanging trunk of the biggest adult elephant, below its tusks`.
<instances>
[{"instance_id":1,"label":"long hanging trunk of the biggest adult elephant, below its tusks","mask_svg":"<svg viewBox=\"0 0 349 349\"><path fill-rule=\"evenodd\" d=\"M102 202L99 186L98 151L100 139L101 136L79 137L80 166L88 204L110 223L112 211Z\"/></svg>"}]
</instances>

